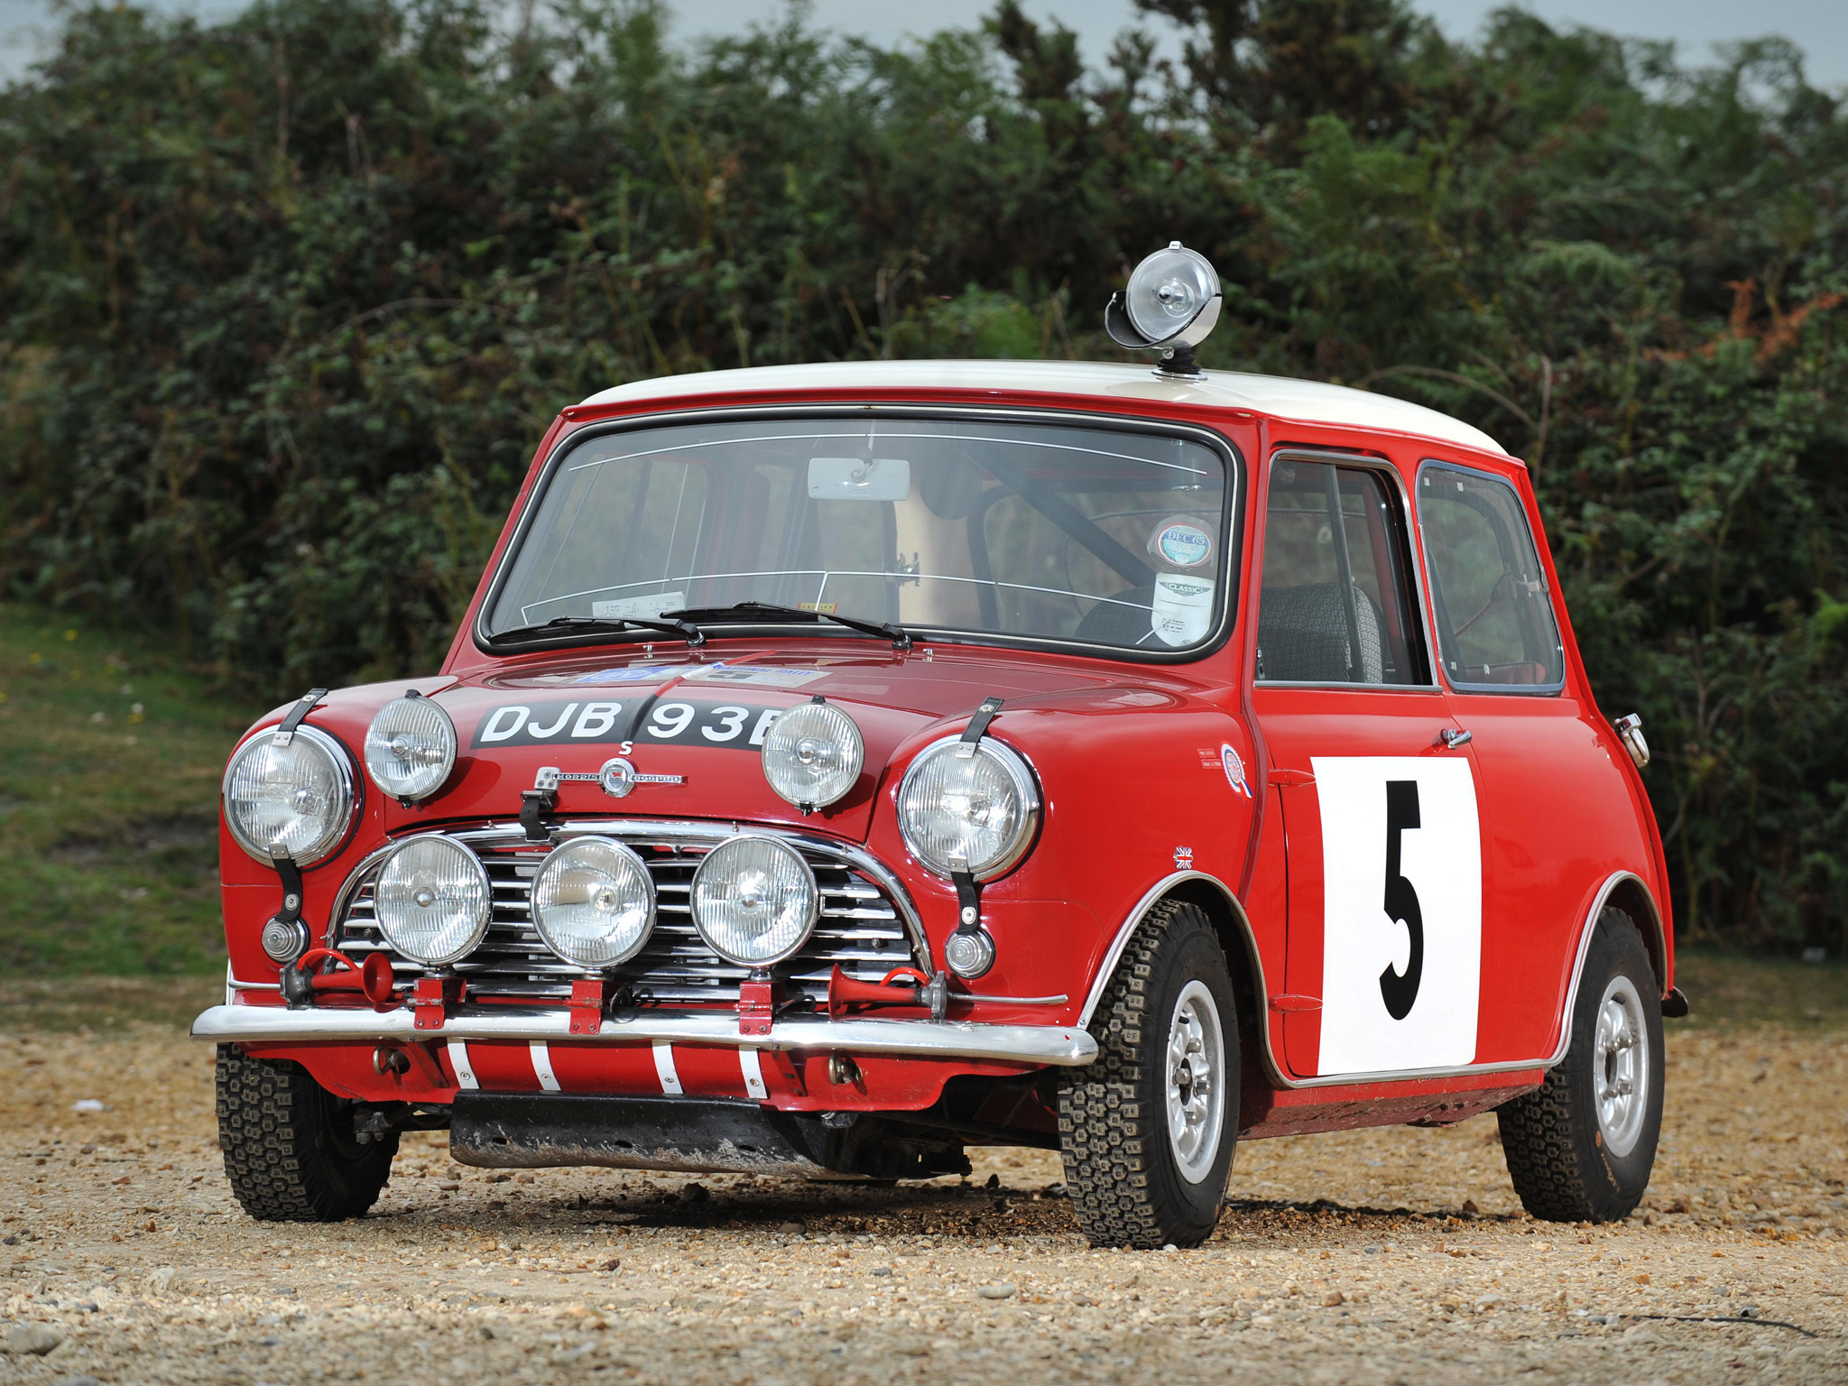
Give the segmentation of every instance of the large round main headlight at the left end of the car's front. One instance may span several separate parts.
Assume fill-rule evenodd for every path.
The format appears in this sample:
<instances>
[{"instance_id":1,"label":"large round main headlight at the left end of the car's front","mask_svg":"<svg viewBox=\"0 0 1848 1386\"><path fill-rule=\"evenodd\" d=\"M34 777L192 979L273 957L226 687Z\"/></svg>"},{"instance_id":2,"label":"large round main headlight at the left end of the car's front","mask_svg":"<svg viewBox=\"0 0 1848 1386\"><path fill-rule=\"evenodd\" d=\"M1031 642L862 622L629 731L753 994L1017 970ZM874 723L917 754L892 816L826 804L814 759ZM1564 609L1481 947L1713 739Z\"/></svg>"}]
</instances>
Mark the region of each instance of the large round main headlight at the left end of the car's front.
<instances>
[{"instance_id":1,"label":"large round main headlight at the left end of the car's front","mask_svg":"<svg viewBox=\"0 0 1848 1386\"><path fill-rule=\"evenodd\" d=\"M325 732L298 726L288 745L259 732L225 765L225 822L257 861L286 852L310 867L353 826L353 771L346 748Z\"/></svg>"}]
</instances>

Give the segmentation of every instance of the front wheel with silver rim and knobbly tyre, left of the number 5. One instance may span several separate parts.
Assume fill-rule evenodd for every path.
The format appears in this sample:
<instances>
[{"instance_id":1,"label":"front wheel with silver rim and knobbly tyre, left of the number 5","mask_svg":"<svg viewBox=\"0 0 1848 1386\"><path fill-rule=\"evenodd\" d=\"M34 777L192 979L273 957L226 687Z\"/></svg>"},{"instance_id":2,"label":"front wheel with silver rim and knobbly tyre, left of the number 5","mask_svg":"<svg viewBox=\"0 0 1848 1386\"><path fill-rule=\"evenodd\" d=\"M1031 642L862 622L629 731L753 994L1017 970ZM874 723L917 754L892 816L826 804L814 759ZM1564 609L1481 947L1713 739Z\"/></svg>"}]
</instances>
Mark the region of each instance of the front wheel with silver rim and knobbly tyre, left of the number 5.
<instances>
[{"instance_id":1,"label":"front wheel with silver rim and knobbly tyre, left of the number 5","mask_svg":"<svg viewBox=\"0 0 1848 1386\"><path fill-rule=\"evenodd\" d=\"M1072 1212L1092 1246L1199 1246L1238 1133L1238 1024L1225 952L1175 900L1137 928L1090 1022L1098 1059L1059 1083Z\"/></svg>"}]
</instances>

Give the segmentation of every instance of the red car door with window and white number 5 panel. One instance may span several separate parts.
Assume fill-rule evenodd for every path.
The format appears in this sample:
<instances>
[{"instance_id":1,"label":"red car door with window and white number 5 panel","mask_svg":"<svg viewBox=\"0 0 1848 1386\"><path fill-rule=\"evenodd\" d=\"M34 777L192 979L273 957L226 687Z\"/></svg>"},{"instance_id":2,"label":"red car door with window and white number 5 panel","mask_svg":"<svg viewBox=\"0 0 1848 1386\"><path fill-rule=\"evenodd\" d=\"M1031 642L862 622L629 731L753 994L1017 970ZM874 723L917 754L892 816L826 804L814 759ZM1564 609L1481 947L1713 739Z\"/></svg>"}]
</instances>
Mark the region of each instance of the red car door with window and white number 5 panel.
<instances>
[{"instance_id":1,"label":"red car door with window and white number 5 panel","mask_svg":"<svg viewBox=\"0 0 1848 1386\"><path fill-rule=\"evenodd\" d=\"M1475 1059L1475 774L1427 656L1404 486L1377 458L1279 453L1264 501L1253 713L1288 876L1294 1077Z\"/></svg>"}]
</instances>

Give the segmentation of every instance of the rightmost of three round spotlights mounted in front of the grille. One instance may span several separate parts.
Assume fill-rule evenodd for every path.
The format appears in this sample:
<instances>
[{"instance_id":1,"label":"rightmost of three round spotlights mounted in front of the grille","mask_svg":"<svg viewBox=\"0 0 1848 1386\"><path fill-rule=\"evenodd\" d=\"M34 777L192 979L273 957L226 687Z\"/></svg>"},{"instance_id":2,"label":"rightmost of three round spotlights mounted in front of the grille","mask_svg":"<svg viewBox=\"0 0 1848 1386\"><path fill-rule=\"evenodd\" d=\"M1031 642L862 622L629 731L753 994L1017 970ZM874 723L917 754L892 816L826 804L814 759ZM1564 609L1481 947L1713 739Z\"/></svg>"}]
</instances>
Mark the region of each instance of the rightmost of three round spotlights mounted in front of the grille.
<instances>
[{"instance_id":1,"label":"rightmost of three round spotlights mounted in front of the grille","mask_svg":"<svg viewBox=\"0 0 1848 1386\"><path fill-rule=\"evenodd\" d=\"M776 837L728 837L693 872L693 928L726 963L769 967L815 928L815 872Z\"/></svg>"}]
</instances>

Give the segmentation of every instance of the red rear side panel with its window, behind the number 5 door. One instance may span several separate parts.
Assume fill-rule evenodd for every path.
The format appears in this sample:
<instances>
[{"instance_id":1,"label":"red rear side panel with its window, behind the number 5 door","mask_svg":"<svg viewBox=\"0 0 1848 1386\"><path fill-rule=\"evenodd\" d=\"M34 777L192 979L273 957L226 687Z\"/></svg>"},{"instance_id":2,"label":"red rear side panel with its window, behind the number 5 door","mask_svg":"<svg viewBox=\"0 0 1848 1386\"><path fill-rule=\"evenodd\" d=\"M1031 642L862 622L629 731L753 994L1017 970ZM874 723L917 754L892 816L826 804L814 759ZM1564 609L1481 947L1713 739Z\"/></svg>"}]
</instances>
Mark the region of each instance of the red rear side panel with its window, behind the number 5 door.
<instances>
[{"instance_id":1,"label":"red rear side panel with its window, behind the number 5 door","mask_svg":"<svg viewBox=\"0 0 1848 1386\"><path fill-rule=\"evenodd\" d=\"M1477 760L1495 989L1478 1061L1545 1059L1593 894L1650 852L1589 689L1569 676L1526 488L1425 462L1416 497L1445 700Z\"/></svg>"}]
</instances>

